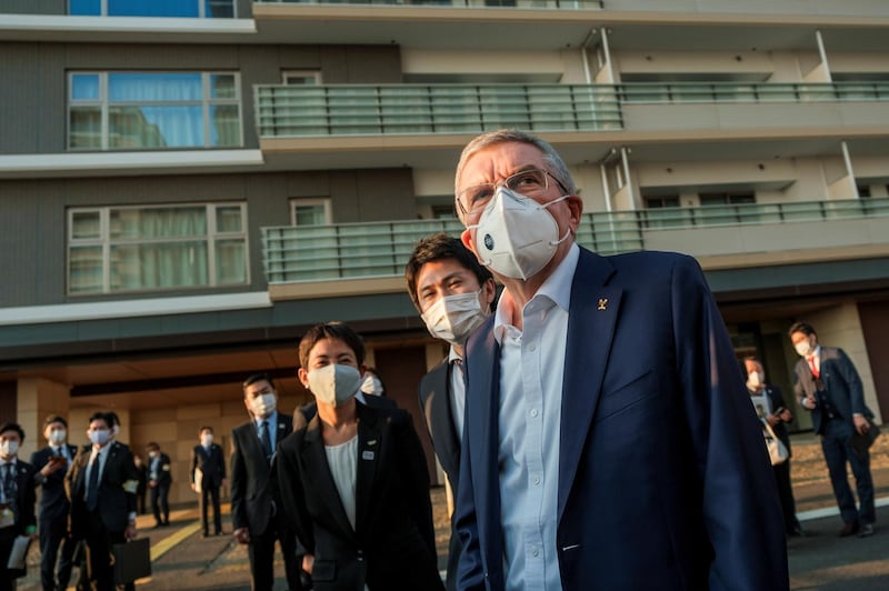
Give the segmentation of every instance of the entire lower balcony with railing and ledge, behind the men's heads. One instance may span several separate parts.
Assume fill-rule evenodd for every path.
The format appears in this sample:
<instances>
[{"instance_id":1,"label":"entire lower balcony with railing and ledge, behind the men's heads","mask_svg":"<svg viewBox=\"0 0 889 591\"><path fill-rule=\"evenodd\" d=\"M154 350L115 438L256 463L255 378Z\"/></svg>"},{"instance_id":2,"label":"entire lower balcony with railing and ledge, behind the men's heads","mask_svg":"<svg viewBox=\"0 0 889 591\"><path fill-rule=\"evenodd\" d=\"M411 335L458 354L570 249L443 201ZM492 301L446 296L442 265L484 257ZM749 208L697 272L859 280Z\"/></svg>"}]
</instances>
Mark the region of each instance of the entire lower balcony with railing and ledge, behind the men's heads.
<instances>
[{"instance_id":1,"label":"entire lower balcony with railing and ledge, behind the men's heads","mask_svg":"<svg viewBox=\"0 0 889 591\"><path fill-rule=\"evenodd\" d=\"M462 230L456 219L263 228L270 297L401 290L417 240ZM889 199L585 213L577 241L600 254L686 252L705 269L889 256Z\"/></svg>"}]
</instances>

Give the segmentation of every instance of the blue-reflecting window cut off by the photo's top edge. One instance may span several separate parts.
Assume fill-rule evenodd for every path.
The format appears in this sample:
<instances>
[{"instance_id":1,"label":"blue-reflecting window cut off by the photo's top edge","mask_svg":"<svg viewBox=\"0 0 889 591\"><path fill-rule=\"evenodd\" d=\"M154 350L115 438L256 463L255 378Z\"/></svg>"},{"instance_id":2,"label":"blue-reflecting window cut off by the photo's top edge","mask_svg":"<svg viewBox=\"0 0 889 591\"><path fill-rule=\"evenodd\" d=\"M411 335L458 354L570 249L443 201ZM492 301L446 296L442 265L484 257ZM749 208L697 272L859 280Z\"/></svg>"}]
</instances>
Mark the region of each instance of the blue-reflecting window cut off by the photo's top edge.
<instances>
[{"instance_id":1,"label":"blue-reflecting window cut off by the photo's top edge","mask_svg":"<svg viewBox=\"0 0 889 591\"><path fill-rule=\"evenodd\" d=\"M234 0L70 0L68 13L92 17L232 19Z\"/></svg>"}]
</instances>

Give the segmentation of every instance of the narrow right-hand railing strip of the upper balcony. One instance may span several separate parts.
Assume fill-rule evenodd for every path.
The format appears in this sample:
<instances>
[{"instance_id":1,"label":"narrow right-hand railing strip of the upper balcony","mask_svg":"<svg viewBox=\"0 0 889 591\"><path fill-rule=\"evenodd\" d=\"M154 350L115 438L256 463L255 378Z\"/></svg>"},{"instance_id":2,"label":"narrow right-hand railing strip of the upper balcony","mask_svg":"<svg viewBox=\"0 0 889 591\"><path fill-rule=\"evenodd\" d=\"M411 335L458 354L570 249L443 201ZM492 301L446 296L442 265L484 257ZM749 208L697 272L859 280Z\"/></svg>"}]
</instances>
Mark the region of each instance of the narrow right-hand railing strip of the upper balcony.
<instances>
[{"instance_id":1,"label":"narrow right-hand railing strip of the upper balcony","mask_svg":"<svg viewBox=\"0 0 889 591\"><path fill-rule=\"evenodd\" d=\"M833 83L628 82L623 103L886 101L889 81Z\"/></svg>"}]
</instances>

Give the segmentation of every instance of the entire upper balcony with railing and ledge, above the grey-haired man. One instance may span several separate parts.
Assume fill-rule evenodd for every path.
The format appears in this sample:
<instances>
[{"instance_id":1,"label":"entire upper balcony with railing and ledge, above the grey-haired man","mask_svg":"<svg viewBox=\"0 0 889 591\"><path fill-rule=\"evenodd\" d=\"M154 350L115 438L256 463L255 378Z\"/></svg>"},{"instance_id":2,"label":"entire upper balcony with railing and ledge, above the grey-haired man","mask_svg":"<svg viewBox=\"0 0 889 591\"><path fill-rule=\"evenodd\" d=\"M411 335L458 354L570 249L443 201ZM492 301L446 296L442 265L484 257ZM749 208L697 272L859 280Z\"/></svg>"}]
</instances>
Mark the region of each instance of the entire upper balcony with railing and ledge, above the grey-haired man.
<instances>
[{"instance_id":1,"label":"entire upper balcony with railing and ledge, above the grey-haired man","mask_svg":"<svg viewBox=\"0 0 889 591\"><path fill-rule=\"evenodd\" d=\"M860 140L885 153L889 82L610 84L333 84L254 87L260 148L298 170L434 167L471 136L500 127L542 133L569 163L595 162L615 146L683 146L711 158L717 143L750 158L811 153ZM883 121L883 123L879 123ZM875 146L863 146L872 139ZM656 143L652 143L656 142ZM732 143L733 142L733 143ZM823 143L823 142L822 142ZM691 151L689 151L691 150ZM882 151L882 152L880 152Z\"/></svg>"}]
</instances>

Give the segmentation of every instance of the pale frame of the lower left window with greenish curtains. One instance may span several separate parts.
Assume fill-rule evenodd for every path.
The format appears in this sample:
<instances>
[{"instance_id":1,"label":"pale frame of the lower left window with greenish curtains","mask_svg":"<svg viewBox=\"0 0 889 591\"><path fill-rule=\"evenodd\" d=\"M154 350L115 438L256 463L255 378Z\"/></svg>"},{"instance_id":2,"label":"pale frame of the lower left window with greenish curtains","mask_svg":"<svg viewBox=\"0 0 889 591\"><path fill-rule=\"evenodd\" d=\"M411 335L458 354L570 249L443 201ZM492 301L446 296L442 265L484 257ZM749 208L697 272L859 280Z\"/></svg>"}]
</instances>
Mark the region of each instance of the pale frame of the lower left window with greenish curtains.
<instances>
[{"instance_id":1,"label":"pale frame of the lower left window with greenish curtains","mask_svg":"<svg viewBox=\"0 0 889 591\"><path fill-rule=\"evenodd\" d=\"M187 240L197 242L199 240L206 243L207 248L207 283L201 286L176 286L176 287L141 287L138 289L111 289L111 249L116 246L122 244L158 244L163 242L172 242L181 240L181 238L126 238L112 239L111 238L111 212L120 210L151 210L151 209L193 209L203 207L207 233L202 238L188 237ZM241 214L241 229L238 232L220 232L217 228L217 213L221 208L240 209ZM78 213L93 212L99 214L99 237L98 238L82 238L76 239L74 236L74 216ZM247 219L247 202L244 201L210 201L210 202L183 202L183 203L143 203L133 206L100 206L100 207L70 207L66 211L66 294L73 298L94 297L107 294L130 294L130 293L158 293L164 291L188 291L188 290L204 290L218 288L247 288L250 286L250 240L248 231ZM218 266L216 247L220 241L241 240L243 243L243 259L244 259L244 281L239 283L219 283L218 281ZM101 289L92 291L72 291L72 250L76 248L100 247L102 258L102 281Z\"/></svg>"}]
</instances>

